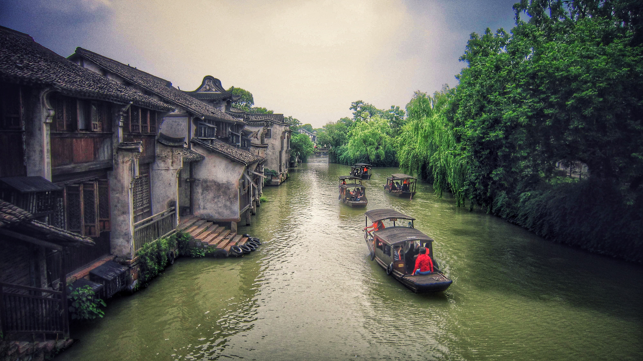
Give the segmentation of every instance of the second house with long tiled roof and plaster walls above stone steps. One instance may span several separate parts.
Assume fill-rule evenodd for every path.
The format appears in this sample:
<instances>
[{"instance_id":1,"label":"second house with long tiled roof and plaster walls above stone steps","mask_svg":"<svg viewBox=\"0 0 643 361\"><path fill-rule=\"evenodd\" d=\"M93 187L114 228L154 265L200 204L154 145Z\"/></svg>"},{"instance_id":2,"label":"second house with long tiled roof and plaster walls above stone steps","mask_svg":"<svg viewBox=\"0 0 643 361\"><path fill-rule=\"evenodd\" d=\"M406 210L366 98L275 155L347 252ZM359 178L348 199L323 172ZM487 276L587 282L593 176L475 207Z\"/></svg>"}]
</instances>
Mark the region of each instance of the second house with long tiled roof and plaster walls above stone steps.
<instances>
[{"instance_id":1,"label":"second house with long tiled roof and plaster walls above stone steps","mask_svg":"<svg viewBox=\"0 0 643 361\"><path fill-rule=\"evenodd\" d=\"M254 213L249 208L255 209L260 195L257 173L260 173L264 159L239 148L240 133L245 125L243 121L195 98L190 92L172 87L167 80L92 51L77 48L69 58L80 66L172 105L175 110L163 114L159 121L159 139L174 141L165 144L158 141L154 146L159 150L165 149L168 143L178 146L183 139L186 148L204 156L203 161L194 161L185 168L179 163L167 164L169 156L162 158L162 164L149 164L152 172L157 173L152 178L163 179L163 184L154 186L157 195L152 199L156 200L157 209L176 202L181 215L197 215L221 225L227 224L235 231L242 215L246 216L249 224L250 213ZM213 89L211 81L204 81L201 89ZM221 100L226 101L226 96L230 98L231 94L224 94ZM240 158L244 159L241 163ZM239 163L241 168L231 165L230 159ZM255 180L250 182L254 184L251 188L246 186L247 179Z\"/></svg>"}]
</instances>

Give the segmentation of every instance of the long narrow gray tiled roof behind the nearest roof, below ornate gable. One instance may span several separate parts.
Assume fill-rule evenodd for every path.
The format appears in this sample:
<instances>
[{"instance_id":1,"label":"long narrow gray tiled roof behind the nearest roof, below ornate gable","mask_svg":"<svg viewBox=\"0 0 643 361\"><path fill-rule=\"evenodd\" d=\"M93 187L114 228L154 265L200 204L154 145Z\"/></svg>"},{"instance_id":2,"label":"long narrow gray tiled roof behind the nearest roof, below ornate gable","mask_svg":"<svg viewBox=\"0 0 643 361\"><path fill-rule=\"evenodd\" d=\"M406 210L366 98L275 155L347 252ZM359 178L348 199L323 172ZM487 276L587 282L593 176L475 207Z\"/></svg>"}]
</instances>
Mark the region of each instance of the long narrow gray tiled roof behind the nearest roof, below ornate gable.
<instances>
[{"instance_id":1,"label":"long narrow gray tiled roof behind the nearest roof, below ornate gable","mask_svg":"<svg viewBox=\"0 0 643 361\"><path fill-rule=\"evenodd\" d=\"M185 92L172 87L172 83L159 78L158 76L145 73L145 71L141 71L139 69L136 69L135 67L125 65L121 62L117 62L114 59L104 57L103 55L83 48L76 48L76 52L69 58L75 57L86 58L94 64L102 67L106 71L121 76L128 82L136 84L143 89L146 89L147 91L157 94L170 103L175 103L181 107L184 107L197 116L208 119L229 121L231 123L240 123L238 119L232 118L229 114L226 114L225 112L212 107L212 105L206 104L203 101L200 101L192 96L189 96L188 94L185 94Z\"/></svg>"}]
</instances>

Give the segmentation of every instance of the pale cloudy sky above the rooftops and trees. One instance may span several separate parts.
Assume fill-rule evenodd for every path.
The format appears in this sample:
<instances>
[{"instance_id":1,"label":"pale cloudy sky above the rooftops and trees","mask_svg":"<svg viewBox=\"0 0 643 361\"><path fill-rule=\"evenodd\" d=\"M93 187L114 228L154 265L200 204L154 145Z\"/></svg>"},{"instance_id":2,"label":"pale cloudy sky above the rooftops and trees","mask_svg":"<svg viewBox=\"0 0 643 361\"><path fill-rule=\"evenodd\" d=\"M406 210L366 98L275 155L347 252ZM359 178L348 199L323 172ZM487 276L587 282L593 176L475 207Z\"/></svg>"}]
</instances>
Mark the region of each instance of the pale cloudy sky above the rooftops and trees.
<instances>
[{"instance_id":1,"label":"pale cloudy sky above the rooftops and trees","mask_svg":"<svg viewBox=\"0 0 643 361\"><path fill-rule=\"evenodd\" d=\"M350 103L404 107L457 85L469 34L510 30L517 0L0 0L0 25L192 91L205 75L314 127Z\"/></svg>"}]
</instances>

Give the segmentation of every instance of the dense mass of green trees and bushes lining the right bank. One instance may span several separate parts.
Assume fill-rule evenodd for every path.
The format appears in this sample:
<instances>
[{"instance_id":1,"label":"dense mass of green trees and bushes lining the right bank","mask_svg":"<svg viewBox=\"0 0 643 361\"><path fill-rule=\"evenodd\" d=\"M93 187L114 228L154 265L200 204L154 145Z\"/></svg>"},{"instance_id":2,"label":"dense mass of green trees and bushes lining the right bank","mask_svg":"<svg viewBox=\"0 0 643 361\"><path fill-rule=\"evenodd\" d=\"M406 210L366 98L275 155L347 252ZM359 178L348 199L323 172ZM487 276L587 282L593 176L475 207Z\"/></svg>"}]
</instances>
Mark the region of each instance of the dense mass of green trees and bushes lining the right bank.
<instances>
[{"instance_id":1,"label":"dense mass of green trees and bushes lining the right bank","mask_svg":"<svg viewBox=\"0 0 643 361\"><path fill-rule=\"evenodd\" d=\"M514 10L511 33L471 34L457 87L415 92L397 123L353 103L354 117L327 124L318 141L339 163L395 157L458 206L643 262L643 5L523 0ZM380 119L389 127L370 126ZM557 169L576 162L588 179Z\"/></svg>"}]
</instances>

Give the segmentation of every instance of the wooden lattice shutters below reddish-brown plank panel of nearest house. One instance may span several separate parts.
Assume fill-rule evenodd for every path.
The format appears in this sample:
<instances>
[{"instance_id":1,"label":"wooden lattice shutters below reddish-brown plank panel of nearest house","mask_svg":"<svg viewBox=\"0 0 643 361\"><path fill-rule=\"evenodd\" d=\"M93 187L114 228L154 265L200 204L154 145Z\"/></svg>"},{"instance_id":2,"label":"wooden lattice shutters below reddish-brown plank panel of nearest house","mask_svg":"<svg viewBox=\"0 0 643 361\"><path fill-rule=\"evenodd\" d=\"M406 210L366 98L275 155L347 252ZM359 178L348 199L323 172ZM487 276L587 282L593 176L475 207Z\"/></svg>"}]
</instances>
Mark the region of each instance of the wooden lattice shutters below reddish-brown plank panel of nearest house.
<instances>
[{"instance_id":1,"label":"wooden lattice shutters below reddish-brown plank panel of nearest house","mask_svg":"<svg viewBox=\"0 0 643 361\"><path fill-rule=\"evenodd\" d=\"M69 231L90 237L109 231L108 189L107 180L65 186L65 218Z\"/></svg>"}]
</instances>

